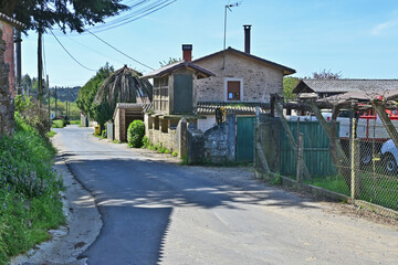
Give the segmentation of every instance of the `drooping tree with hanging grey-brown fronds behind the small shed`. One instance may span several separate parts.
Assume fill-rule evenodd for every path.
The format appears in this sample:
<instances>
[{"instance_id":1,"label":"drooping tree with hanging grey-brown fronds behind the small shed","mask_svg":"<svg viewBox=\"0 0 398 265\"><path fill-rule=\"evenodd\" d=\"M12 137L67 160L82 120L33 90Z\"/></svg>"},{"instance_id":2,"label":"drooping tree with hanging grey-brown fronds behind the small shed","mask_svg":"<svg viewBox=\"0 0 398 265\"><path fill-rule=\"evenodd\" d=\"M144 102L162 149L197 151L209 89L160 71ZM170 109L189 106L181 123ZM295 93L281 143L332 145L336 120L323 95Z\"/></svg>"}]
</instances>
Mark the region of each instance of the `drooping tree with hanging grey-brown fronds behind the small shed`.
<instances>
[{"instance_id":1,"label":"drooping tree with hanging grey-brown fronds behind the small shed","mask_svg":"<svg viewBox=\"0 0 398 265\"><path fill-rule=\"evenodd\" d=\"M98 89L92 113L101 125L112 119L117 103L150 103L153 86L147 80L133 68L124 66L107 77Z\"/></svg>"}]
</instances>

